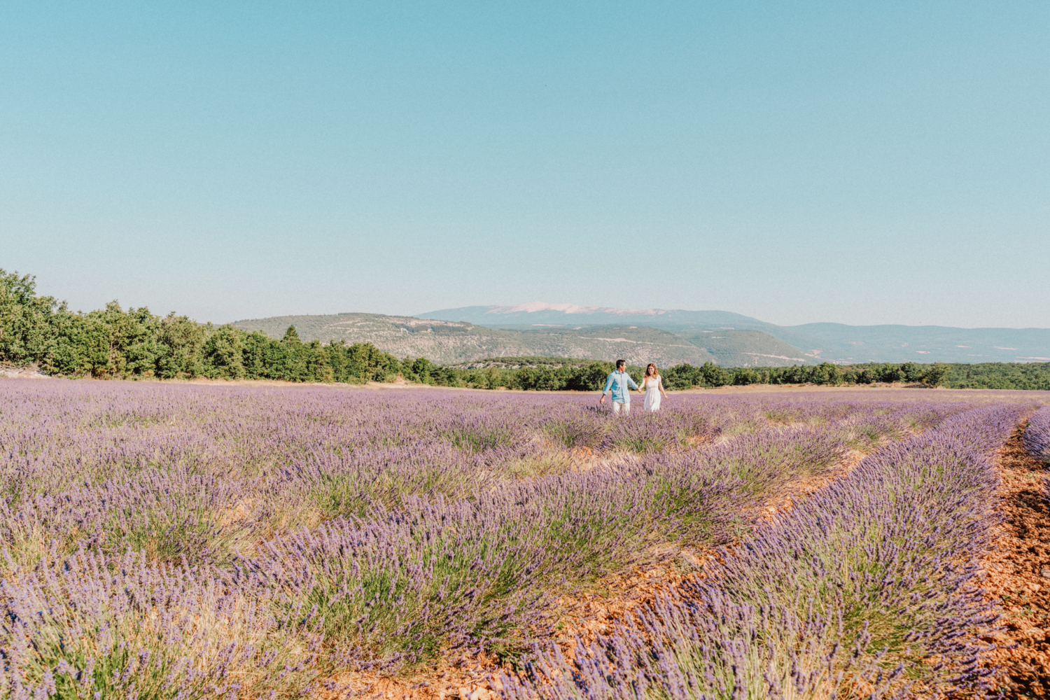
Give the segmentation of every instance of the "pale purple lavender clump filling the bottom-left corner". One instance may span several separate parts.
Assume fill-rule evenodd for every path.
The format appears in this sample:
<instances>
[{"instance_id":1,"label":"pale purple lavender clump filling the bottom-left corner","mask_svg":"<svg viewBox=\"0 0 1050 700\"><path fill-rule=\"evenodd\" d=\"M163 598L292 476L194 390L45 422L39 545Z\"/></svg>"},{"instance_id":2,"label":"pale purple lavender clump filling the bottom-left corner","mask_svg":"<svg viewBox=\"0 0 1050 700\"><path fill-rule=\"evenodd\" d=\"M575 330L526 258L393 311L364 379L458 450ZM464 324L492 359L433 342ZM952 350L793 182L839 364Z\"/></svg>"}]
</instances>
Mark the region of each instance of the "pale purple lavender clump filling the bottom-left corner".
<instances>
[{"instance_id":1,"label":"pale purple lavender clump filling the bottom-left corner","mask_svg":"<svg viewBox=\"0 0 1050 700\"><path fill-rule=\"evenodd\" d=\"M220 570L52 552L0 595L3 697L259 697L316 675L309 611L278 619Z\"/></svg>"}]
</instances>

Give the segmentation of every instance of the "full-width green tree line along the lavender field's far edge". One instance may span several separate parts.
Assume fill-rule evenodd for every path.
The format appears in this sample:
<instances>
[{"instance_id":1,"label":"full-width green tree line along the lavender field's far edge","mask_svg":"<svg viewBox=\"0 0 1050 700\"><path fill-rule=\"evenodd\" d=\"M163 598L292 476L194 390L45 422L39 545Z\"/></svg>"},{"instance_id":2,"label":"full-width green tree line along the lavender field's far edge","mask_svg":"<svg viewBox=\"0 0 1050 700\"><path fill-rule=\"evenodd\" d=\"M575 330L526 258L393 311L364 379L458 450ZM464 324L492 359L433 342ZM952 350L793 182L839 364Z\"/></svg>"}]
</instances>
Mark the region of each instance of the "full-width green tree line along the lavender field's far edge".
<instances>
[{"instance_id":1,"label":"full-width green tree line along the lavender field's far edge","mask_svg":"<svg viewBox=\"0 0 1050 700\"><path fill-rule=\"evenodd\" d=\"M510 358L513 359L513 358ZM520 359L520 358L519 358ZM531 361L529 361L531 360ZM601 389L611 362L525 358L516 368L439 366L398 359L372 343L302 342L290 326L280 339L232 325L197 323L146 307L71 312L36 293L32 276L0 269L0 362L36 364L46 374L113 379L279 379L292 382L406 381L440 386L526 390ZM629 374L642 379L643 368ZM1050 390L1050 362L980 364L916 362L789 367L678 364L662 370L670 389L747 384L863 385L904 382L950 388Z\"/></svg>"}]
</instances>

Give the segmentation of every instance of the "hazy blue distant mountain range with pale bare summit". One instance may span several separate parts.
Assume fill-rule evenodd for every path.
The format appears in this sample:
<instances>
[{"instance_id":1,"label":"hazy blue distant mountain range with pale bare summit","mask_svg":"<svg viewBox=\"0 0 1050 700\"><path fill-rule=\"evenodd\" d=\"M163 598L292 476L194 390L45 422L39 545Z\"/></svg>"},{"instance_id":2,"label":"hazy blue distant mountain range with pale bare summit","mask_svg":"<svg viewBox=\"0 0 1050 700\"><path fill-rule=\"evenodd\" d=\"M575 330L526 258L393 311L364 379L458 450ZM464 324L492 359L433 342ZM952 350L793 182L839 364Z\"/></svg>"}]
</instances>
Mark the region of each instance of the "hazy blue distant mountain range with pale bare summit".
<instances>
[{"instance_id":1,"label":"hazy blue distant mountain range with pale bare summit","mask_svg":"<svg viewBox=\"0 0 1050 700\"><path fill-rule=\"evenodd\" d=\"M1047 328L953 328L909 325L806 323L782 326L724 311L610 309L532 302L463 306L421 316L492 328L645 324L707 348L723 366L857 362L1045 362ZM789 360L785 358L796 358ZM797 360L803 358L803 360Z\"/></svg>"}]
</instances>

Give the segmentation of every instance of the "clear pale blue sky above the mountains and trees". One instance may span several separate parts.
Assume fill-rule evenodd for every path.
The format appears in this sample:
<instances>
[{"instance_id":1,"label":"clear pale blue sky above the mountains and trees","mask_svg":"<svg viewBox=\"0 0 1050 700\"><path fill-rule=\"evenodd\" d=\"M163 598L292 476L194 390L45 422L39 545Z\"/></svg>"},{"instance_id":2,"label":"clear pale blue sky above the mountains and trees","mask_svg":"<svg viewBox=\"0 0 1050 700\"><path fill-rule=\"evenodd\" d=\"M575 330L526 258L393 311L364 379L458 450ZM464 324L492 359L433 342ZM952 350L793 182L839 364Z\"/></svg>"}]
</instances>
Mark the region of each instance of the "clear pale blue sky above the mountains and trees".
<instances>
[{"instance_id":1,"label":"clear pale blue sky above the mountains and trees","mask_svg":"<svg viewBox=\"0 0 1050 700\"><path fill-rule=\"evenodd\" d=\"M4 2L0 267L231 321L1050 326L1050 3Z\"/></svg>"}]
</instances>

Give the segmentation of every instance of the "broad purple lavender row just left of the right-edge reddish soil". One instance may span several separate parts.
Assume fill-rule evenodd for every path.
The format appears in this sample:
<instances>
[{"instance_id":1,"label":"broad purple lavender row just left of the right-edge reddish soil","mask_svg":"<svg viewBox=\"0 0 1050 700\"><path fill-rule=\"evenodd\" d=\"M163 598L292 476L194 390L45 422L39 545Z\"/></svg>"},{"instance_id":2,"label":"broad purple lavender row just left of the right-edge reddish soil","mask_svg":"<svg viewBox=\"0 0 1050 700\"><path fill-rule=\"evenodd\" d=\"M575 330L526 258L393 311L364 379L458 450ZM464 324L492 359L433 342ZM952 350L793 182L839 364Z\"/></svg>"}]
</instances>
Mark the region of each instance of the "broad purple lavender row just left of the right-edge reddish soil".
<instances>
[{"instance_id":1,"label":"broad purple lavender row just left of the right-edge reddish soil","mask_svg":"<svg viewBox=\"0 0 1050 700\"><path fill-rule=\"evenodd\" d=\"M525 678L503 678L506 696L980 692L976 633L995 618L972 580L999 519L989 457L1023 411L968 411L864 460L573 660L541 651Z\"/></svg>"}]
</instances>

